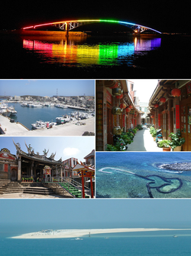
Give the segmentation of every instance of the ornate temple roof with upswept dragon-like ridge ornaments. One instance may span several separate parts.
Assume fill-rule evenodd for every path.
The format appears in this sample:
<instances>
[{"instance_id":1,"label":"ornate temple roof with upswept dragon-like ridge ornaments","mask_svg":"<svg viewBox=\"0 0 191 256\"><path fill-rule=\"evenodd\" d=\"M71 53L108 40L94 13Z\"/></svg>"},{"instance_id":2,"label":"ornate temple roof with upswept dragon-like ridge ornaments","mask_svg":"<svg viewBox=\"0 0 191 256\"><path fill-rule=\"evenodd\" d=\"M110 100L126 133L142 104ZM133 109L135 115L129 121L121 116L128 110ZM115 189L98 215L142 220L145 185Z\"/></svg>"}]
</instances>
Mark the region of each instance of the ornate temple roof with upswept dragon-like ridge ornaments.
<instances>
[{"instance_id":1,"label":"ornate temple roof with upswept dragon-like ridge ornaments","mask_svg":"<svg viewBox=\"0 0 191 256\"><path fill-rule=\"evenodd\" d=\"M15 143L14 140L13 140L13 143L17 149L17 155L24 156L29 159L44 161L44 162L60 163L60 164L62 164L62 162L63 162L62 158L60 158L58 161L54 160L54 156L56 155L56 153L54 153L54 154L52 153L49 157L47 157L47 153L49 152L49 150L44 149L44 155L40 155L38 152L34 153L34 149L32 149L31 144L27 145L24 142L25 146L28 149L28 153L25 153L23 150L21 150L21 146L19 143Z\"/></svg>"}]
</instances>

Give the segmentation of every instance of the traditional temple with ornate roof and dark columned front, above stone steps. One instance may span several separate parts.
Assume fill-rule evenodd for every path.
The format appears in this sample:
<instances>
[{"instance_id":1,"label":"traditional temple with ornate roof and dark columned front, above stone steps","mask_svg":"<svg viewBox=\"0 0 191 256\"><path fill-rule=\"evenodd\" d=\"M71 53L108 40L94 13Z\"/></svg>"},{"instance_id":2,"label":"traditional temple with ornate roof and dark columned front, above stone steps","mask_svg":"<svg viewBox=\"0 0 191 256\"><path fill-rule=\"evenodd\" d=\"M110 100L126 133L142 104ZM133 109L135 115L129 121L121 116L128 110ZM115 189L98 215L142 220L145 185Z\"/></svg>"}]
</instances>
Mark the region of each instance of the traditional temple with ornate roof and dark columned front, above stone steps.
<instances>
[{"instance_id":1,"label":"traditional temple with ornate roof and dark columned front, above stone steps","mask_svg":"<svg viewBox=\"0 0 191 256\"><path fill-rule=\"evenodd\" d=\"M19 143L15 143L17 149L16 156L12 155L8 149L2 149L0 152L0 179L11 179L18 181L33 178L34 181L51 181L53 177L63 177L63 161L54 159L55 154L47 157L48 151L44 149L44 155L34 153L31 145L27 146L28 153L21 150ZM47 173L49 166L50 172Z\"/></svg>"}]
</instances>

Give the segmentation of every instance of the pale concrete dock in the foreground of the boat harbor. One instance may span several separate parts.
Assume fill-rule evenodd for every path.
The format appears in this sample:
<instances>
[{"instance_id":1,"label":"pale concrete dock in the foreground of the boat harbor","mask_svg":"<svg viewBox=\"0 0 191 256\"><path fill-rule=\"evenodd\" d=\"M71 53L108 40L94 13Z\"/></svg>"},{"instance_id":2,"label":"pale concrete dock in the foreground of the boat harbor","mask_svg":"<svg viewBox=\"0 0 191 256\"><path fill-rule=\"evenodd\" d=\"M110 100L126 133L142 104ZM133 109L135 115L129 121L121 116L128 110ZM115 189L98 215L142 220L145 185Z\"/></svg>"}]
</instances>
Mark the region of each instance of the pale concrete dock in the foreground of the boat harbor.
<instances>
[{"instance_id":1,"label":"pale concrete dock in the foreground of the boat harbor","mask_svg":"<svg viewBox=\"0 0 191 256\"><path fill-rule=\"evenodd\" d=\"M95 117L80 120L77 122L64 123L52 128L42 128L38 130L28 130L21 123L11 123L8 117L0 115L0 128L4 132L0 136L82 136L86 131L95 133Z\"/></svg>"}]
</instances>

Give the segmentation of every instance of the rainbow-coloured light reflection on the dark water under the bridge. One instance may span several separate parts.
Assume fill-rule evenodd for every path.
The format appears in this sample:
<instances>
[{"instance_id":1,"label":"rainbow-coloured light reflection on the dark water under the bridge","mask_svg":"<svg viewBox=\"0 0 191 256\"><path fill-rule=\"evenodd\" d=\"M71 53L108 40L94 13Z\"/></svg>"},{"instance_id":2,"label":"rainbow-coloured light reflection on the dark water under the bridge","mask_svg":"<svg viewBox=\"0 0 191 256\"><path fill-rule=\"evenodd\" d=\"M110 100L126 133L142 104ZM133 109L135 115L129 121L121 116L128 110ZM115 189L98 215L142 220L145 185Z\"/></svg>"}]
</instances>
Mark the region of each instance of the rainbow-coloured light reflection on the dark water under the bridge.
<instances>
[{"instance_id":1,"label":"rainbow-coloured light reflection on the dark water under the bridge","mask_svg":"<svg viewBox=\"0 0 191 256\"><path fill-rule=\"evenodd\" d=\"M132 38L128 41L89 43L84 38L53 41L51 38L23 39L23 48L38 54L40 62L63 66L133 65L138 55L160 48L161 38Z\"/></svg>"}]
</instances>

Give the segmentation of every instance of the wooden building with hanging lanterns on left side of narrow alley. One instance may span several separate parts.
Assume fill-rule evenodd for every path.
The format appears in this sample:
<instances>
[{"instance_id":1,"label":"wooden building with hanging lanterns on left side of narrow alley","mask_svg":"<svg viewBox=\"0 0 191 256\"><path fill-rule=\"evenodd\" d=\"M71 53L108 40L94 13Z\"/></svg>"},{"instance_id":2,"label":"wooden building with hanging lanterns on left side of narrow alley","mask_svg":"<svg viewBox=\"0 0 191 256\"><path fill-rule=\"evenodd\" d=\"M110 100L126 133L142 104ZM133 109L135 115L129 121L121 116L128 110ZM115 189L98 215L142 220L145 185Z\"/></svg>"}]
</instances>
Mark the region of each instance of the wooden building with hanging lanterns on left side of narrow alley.
<instances>
[{"instance_id":1,"label":"wooden building with hanging lanterns on left side of narrow alley","mask_svg":"<svg viewBox=\"0 0 191 256\"><path fill-rule=\"evenodd\" d=\"M113 145L115 127L127 132L141 124L141 111L134 105L133 83L128 80L96 80L96 150Z\"/></svg>"}]
</instances>

